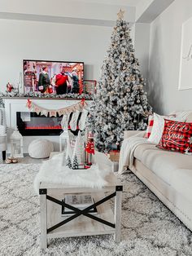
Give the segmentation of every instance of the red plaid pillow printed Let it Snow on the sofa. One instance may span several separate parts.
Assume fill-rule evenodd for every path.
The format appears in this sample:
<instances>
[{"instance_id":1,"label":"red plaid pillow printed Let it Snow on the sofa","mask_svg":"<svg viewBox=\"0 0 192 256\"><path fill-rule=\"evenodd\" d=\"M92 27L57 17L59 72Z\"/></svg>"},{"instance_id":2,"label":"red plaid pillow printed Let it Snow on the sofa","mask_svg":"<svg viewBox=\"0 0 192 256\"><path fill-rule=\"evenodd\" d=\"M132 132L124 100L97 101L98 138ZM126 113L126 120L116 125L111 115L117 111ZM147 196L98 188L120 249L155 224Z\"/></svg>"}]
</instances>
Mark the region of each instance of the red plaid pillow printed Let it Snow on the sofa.
<instances>
[{"instance_id":1,"label":"red plaid pillow printed Let it Snow on the sofa","mask_svg":"<svg viewBox=\"0 0 192 256\"><path fill-rule=\"evenodd\" d=\"M192 154L192 122L164 120L158 148Z\"/></svg>"}]
</instances>

